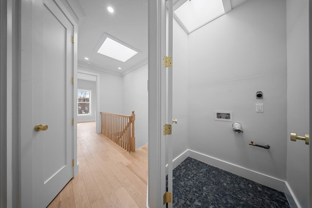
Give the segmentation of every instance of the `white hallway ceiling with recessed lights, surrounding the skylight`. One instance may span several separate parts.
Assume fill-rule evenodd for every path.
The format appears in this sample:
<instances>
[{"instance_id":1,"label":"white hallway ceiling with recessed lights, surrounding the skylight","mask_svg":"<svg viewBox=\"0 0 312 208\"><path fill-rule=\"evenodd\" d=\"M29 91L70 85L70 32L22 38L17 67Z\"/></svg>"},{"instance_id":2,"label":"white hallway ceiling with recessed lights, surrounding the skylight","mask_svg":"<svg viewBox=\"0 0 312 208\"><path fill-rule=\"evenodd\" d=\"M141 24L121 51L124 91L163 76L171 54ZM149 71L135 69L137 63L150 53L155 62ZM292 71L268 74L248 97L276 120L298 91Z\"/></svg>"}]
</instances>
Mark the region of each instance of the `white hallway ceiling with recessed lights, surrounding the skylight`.
<instances>
[{"instance_id":1,"label":"white hallway ceiling with recessed lights, surrounding the skylight","mask_svg":"<svg viewBox=\"0 0 312 208\"><path fill-rule=\"evenodd\" d=\"M72 4L76 0L66 1ZM78 24L78 65L123 75L147 63L147 0L77 1L84 13ZM231 0L231 4L234 8L245 1ZM107 11L108 6L114 8L113 14ZM105 34L137 49L139 53L126 62L98 54L96 48Z\"/></svg>"}]
</instances>

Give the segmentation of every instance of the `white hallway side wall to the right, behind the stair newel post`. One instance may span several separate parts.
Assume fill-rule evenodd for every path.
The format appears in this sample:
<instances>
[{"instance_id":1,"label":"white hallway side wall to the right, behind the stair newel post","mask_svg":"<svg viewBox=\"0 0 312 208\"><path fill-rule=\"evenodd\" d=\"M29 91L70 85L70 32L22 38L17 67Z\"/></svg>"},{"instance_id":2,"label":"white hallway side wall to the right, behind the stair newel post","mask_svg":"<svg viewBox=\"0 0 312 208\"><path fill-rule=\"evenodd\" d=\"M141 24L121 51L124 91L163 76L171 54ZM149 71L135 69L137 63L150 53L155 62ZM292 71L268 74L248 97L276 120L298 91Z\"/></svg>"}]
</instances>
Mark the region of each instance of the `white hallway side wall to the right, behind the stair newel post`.
<instances>
[{"instance_id":1,"label":"white hallway side wall to the right, behind the stair newel post","mask_svg":"<svg viewBox=\"0 0 312 208\"><path fill-rule=\"evenodd\" d=\"M136 148L148 143L147 64L122 77L122 114L135 111Z\"/></svg>"}]
</instances>

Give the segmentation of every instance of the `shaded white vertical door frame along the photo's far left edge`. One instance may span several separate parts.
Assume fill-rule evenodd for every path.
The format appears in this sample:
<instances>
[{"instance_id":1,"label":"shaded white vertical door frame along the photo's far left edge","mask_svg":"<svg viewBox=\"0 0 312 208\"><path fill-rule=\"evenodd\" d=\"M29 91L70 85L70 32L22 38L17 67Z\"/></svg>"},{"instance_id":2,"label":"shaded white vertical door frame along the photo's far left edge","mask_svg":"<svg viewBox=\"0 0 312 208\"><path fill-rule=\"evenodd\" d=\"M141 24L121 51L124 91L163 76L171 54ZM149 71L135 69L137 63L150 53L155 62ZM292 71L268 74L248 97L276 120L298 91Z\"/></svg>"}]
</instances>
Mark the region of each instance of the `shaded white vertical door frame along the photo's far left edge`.
<instances>
[{"instance_id":1,"label":"shaded white vertical door frame along the photo's far left edge","mask_svg":"<svg viewBox=\"0 0 312 208\"><path fill-rule=\"evenodd\" d=\"M0 174L0 207L18 207L20 1L3 0L0 4L0 94L6 96L0 99L0 169L4 173Z\"/></svg>"}]
</instances>

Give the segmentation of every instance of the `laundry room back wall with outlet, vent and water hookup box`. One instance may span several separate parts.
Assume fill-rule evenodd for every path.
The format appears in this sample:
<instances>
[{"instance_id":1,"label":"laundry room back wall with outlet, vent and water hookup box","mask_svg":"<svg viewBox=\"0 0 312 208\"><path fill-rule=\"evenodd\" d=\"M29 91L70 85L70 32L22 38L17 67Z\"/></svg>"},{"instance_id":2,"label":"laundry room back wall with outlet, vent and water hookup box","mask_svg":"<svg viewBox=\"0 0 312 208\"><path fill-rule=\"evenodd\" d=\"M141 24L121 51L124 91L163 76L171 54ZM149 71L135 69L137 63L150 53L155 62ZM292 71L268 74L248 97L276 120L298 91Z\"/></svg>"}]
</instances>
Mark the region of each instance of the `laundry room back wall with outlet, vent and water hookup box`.
<instances>
[{"instance_id":1,"label":"laundry room back wall with outlet, vent and water hookup box","mask_svg":"<svg viewBox=\"0 0 312 208\"><path fill-rule=\"evenodd\" d=\"M286 68L285 0L246 1L191 33L189 149L285 180ZM256 103L264 104L263 113L255 112ZM215 110L233 111L244 133L215 121Z\"/></svg>"}]
</instances>

